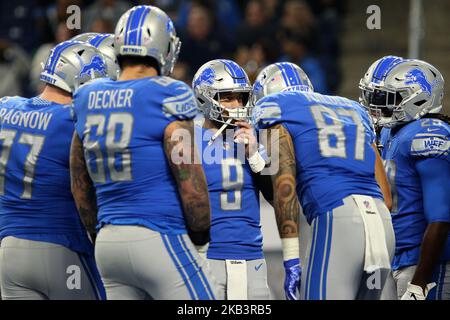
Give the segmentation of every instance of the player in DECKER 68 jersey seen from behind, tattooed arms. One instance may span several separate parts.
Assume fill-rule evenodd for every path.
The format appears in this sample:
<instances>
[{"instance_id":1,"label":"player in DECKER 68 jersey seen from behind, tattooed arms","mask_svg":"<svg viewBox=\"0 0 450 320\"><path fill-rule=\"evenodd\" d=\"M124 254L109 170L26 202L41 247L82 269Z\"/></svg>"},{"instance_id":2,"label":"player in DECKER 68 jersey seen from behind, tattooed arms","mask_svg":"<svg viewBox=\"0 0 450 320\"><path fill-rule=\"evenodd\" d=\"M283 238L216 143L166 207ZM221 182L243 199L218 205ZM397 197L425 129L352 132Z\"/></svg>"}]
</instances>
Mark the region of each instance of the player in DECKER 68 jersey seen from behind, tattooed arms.
<instances>
[{"instance_id":1,"label":"player in DECKER 68 jersey seen from behind, tattooed arms","mask_svg":"<svg viewBox=\"0 0 450 320\"><path fill-rule=\"evenodd\" d=\"M181 43L153 6L124 13L114 40L120 76L76 92L71 149L72 192L87 229L99 229L107 298L214 299L193 244L205 244L210 227L191 141L198 107L192 90L168 77Z\"/></svg>"}]
</instances>

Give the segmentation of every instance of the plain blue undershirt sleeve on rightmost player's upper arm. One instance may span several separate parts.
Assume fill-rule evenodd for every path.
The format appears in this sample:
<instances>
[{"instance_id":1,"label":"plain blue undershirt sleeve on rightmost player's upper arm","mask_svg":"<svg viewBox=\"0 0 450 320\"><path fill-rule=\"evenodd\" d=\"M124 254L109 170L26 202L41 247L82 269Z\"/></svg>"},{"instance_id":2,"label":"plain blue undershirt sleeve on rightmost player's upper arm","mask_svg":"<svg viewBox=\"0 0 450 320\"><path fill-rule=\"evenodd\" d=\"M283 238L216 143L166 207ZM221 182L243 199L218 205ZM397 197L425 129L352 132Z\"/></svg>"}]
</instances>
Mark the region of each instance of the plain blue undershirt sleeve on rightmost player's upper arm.
<instances>
[{"instance_id":1,"label":"plain blue undershirt sleeve on rightmost player's upper arm","mask_svg":"<svg viewBox=\"0 0 450 320\"><path fill-rule=\"evenodd\" d=\"M450 163L425 158L416 162L422 183L425 218L431 222L450 222Z\"/></svg>"}]
</instances>

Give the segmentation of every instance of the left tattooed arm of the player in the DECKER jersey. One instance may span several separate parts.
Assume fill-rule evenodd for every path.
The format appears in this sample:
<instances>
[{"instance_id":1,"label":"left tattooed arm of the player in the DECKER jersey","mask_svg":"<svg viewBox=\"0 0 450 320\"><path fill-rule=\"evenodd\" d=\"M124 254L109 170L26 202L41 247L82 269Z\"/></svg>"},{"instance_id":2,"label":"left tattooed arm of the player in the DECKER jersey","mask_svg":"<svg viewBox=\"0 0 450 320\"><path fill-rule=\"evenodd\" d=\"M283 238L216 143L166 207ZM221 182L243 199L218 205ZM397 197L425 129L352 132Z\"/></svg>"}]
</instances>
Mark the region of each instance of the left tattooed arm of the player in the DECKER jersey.
<instances>
[{"instance_id":1,"label":"left tattooed arm of the player in the DECKER jersey","mask_svg":"<svg viewBox=\"0 0 450 320\"><path fill-rule=\"evenodd\" d=\"M70 149L70 186L81 221L94 242L97 225L97 199L94 184L86 167L83 145L76 132L73 134Z\"/></svg>"}]
</instances>

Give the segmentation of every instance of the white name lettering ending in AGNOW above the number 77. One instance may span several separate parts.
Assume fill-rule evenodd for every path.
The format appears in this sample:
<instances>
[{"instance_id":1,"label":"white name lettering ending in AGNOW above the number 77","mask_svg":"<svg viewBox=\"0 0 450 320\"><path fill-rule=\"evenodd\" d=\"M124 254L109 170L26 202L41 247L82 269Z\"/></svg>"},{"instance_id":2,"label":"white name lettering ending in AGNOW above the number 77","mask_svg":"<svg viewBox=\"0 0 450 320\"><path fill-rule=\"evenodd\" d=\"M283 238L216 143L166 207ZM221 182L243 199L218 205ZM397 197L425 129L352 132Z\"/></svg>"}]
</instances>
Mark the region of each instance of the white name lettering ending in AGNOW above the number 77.
<instances>
[{"instance_id":1,"label":"white name lettering ending in AGNOW above the number 77","mask_svg":"<svg viewBox=\"0 0 450 320\"><path fill-rule=\"evenodd\" d=\"M30 129L47 130L53 114L43 111L21 111L0 109L0 121L3 124L21 126Z\"/></svg>"}]
</instances>

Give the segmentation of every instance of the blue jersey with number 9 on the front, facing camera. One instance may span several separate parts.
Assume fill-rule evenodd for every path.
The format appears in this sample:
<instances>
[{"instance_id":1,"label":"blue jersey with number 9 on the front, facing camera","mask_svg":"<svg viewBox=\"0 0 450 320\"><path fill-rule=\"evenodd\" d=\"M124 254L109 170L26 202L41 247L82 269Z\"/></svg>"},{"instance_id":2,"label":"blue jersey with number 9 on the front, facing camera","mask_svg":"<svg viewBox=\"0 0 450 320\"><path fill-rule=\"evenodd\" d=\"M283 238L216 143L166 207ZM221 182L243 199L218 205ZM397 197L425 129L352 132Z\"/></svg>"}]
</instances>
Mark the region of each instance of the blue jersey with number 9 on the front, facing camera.
<instances>
[{"instance_id":1,"label":"blue jersey with number 9 on the front, facing camera","mask_svg":"<svg viewBox=\"0 0 450 320\"><path fill-rule=\"evenodd\" d=\"M212 130L195 127L211 203L209 259L262 259L259 189L252 170L236 156L237 145L224 148L222 136L208 141ZM245 162L243 162L245 161Z\"/></svg>"}]
</instances>

